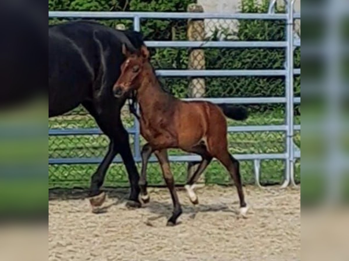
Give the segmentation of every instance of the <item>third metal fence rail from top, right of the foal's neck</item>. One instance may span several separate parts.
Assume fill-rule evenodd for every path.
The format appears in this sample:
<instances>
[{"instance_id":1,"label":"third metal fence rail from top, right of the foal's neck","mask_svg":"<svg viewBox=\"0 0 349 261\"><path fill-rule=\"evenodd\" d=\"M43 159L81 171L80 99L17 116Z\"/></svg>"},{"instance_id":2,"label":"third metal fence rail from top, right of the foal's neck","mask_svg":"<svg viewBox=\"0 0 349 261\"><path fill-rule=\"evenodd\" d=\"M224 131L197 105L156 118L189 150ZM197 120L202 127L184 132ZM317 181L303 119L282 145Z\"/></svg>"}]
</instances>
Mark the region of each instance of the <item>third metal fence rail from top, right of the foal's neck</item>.
<instances>
[{"instance_id":1,"label":"third metal fence rail from top, right of the foal's neck","mask_svg":"<svg viewBox=\"0 0 349 261\"><path fill-rule=\"evenodd\" d=\"M163 77L285 76L286 70L156 70Z\"/></svg>"}]
</instances>

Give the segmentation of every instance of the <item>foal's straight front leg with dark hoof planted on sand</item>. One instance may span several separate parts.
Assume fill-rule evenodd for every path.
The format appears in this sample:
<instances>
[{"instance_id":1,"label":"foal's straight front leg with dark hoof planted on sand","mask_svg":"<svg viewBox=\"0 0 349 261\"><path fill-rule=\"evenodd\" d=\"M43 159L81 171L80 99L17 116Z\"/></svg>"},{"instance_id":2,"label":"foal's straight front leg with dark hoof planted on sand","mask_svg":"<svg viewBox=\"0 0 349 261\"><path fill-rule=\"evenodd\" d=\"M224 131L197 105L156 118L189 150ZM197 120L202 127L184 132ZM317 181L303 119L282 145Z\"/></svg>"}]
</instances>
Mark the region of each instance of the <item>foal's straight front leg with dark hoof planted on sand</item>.
<instances>
[{"instance_id":1,"label":"foal's straight front leg with dark hoof planted on sand","mask_svg":"<svg viewBox=\"0 0 349 261\"><path fill-rule=\"evenodd\" d=\"M173 175L172 175L171 169L170 169L170 163L169 163L169 159L167 156L167 150L166 149L159 150L159 151L157 150L157 151L155 151L155 155L158 158L159 163L161 165L162 174L164 175L166 185L170 190L171 198L173 201L174 209L173 209L172 216L170 217L170 219L167 222L167 226L174 226L176 224L177 218L180 216L180 214L182 214L182 208L180 206L178 195L176 192L176 187L174 185L174 179L173 179Z\"/></svg>"}]
</instances>

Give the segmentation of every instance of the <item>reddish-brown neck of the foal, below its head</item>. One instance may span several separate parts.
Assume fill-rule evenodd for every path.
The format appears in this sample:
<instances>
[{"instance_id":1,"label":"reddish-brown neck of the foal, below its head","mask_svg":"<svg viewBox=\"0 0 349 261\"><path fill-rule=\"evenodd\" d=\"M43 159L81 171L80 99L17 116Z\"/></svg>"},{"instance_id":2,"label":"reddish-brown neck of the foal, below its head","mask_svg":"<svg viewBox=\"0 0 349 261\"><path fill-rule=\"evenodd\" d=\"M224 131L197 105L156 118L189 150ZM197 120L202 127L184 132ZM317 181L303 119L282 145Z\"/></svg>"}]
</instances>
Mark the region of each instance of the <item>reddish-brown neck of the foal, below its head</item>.
<instances>
[{"instance_id":1,"label":"reddish-brown neck of the foal, below its head","mask_svg":"<svg viewBox=\"0 0 349 261\"><path fill-rule=\"evenodd\" d=\"M142 117L150 117L153 113L166 112L171 101L176 98L161 88L150 63L144 64L141 77L142 83L137 90L137 100Z\"/></svg>"}]
</instances>

